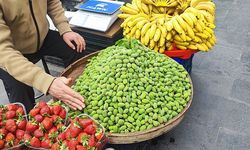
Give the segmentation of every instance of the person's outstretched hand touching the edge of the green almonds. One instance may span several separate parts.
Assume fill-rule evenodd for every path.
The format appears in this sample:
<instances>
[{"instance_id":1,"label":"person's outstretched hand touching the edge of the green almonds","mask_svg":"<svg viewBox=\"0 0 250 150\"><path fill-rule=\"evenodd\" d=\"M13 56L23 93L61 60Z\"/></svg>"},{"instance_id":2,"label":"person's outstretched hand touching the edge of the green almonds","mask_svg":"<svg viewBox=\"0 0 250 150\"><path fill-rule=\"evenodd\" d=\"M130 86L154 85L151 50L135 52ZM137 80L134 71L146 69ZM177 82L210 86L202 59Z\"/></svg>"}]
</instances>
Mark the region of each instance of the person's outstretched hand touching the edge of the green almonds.
<instances>
[{"instance_id":1,"label":"person's outstretched hand touching the edge of the green almonds","mask_svg":"<svg viewBox=\"0 0 250 150\"><path fill-rule=\"evenodd\" d=\"M66 103L70 108L82 110L85 107L84 99L68 86L70 82L71 79L58 77L50 85L48 93Z\"/></svg>"}]
</instances>

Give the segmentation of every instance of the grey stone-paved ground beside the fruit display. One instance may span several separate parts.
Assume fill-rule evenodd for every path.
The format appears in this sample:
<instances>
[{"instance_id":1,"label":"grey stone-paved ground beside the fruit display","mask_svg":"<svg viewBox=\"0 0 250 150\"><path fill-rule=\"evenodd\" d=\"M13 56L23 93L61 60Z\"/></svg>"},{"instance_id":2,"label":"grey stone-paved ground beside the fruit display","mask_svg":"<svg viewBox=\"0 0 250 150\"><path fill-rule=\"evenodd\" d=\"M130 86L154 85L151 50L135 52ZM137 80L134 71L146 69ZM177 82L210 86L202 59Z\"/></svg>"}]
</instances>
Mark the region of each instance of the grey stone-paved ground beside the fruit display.
<instances>
[{"instance_id":1,"label":"grey stone-paved ground beside the fruit display","mask_svg":"<svg viewBox=\"0 0 250 150\"><path fill-rule=\"evenodd\" d=\"M194 99L184 120L157 140L117 150L250 150L250 1L215 3L218 42L195 54ZM7 100L2 85L0 100Z\"/></svg>"}]
</instances>

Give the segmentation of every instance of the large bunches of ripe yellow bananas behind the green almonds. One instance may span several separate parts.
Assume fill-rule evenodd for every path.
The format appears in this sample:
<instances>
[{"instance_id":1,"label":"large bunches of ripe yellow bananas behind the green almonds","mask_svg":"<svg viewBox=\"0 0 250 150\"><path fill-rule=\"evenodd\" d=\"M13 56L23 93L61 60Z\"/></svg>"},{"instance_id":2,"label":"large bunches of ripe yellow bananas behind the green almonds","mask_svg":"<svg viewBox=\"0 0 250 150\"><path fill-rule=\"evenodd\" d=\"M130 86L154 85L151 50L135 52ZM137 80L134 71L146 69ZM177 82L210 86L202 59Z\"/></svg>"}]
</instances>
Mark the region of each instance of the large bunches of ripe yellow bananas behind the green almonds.
<instances>
[{"instance_id":1,"label":"large bunches of ripe yellow bananas behind the green almonds","mask_svg":"<svg viewBox=\"0 0 250 150\"><path fill-rule=\"evenodd\" d=\"M209 51L216 42L212 0L132 0L120 10L123 34L164 53L173 49Z\"/></svg>"}]
</instances>

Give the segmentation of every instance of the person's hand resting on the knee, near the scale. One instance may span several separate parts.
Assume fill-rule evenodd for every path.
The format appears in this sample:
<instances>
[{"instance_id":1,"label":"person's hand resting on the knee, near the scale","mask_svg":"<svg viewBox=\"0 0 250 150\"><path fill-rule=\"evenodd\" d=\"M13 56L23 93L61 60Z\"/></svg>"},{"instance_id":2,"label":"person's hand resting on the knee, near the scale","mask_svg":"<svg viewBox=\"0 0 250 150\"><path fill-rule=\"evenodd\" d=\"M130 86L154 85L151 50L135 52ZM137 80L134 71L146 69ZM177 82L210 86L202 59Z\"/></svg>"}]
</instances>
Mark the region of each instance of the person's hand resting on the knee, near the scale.
<instances>
[{"instance_id":1,"label":"person's hand resting on the knee, near the scale","mask_svg":"<svg viewBox=\"0 0 250 150\"><path fill-rule=\"evenodd\" d=\"M84 38L76 32L66 32L63 34L63 40L71 47L72 49L76 50L77 52L82 52L86 48L86 43ZM72 42L76 43L76 46Z\"/></svg>"}]
</instances>

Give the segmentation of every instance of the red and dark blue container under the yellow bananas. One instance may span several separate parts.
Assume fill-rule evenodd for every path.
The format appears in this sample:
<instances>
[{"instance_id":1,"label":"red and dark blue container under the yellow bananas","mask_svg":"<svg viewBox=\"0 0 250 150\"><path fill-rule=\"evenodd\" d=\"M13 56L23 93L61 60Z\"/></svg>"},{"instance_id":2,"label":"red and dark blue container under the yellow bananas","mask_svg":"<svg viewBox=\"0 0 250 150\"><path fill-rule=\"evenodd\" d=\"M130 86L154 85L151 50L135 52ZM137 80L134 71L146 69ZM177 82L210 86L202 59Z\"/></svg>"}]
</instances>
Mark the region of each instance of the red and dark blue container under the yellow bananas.
<instances>
[{"instance_id":1,"label":"red and dark blue container under the yellow bananas","mask_svg":"<svg viewBox=\"0 0 250 150\"><path fill-rule=\"evenodd\" d=\"M181 64L188 73L191 73L193 57L198 51L190 49L180 50L177 49L175 45L173 47L173 50L165 51L164 54Z\"/></svg>"}]
</instances>

